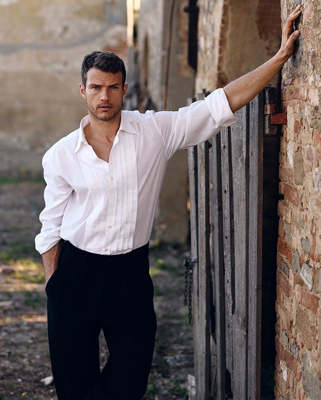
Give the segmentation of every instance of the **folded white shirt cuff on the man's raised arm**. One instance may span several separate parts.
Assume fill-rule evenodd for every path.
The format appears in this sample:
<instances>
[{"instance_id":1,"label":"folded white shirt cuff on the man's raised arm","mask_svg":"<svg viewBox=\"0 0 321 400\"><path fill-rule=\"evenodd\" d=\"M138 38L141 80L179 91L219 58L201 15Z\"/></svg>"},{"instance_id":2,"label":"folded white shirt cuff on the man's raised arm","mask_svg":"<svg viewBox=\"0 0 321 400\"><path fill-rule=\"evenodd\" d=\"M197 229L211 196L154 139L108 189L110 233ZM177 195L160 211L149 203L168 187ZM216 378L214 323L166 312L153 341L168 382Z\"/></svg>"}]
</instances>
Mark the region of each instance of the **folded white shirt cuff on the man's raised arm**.
<instances>
[{"instance_id":1,"label":"folded white shirt cuff on the man's raised arm","mask_svg":"<svg viewBox=\"0 0 321 400\"><path fill-rule=\"evenodd\" d=\"M232 113L223 88L214 90L204 100L219 126L230 126L237 122L238 116Z\"/></svg>"}]
</instances>

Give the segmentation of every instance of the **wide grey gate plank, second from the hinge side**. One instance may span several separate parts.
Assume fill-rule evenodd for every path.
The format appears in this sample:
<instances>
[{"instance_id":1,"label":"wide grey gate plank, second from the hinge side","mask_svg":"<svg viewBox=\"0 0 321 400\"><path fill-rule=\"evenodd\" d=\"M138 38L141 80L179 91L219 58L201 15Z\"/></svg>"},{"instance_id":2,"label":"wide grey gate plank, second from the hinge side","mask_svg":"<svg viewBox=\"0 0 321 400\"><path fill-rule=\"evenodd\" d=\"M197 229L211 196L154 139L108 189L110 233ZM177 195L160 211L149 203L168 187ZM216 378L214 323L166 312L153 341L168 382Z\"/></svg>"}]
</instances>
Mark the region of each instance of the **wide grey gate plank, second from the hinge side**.
<instances>
[{"instance_id":1,"label":"wide grey gate plank, second from the hinge side","mask_svg":"<svg viewBox=\"0 0 321 400\"><path fill-rule=\"evenodd\" d=\"M248 320L248 105L238 111L231 126L235 249L235 303L233 313L233 398L247 399Z\"/></svg>"}]
</instances>

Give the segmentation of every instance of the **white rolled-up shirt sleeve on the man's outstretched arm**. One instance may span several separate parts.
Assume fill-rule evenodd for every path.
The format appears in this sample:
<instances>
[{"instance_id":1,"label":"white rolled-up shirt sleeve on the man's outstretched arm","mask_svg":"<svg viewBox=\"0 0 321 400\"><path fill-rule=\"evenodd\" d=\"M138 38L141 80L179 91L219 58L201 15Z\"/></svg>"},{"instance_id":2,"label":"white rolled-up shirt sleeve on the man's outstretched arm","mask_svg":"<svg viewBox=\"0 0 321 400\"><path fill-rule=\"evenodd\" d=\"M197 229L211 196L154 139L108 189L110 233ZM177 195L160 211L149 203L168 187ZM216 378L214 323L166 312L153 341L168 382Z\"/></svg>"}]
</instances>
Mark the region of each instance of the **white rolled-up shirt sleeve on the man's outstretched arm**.
<instances>
[{"instance_id":1,"label":"white rolled-up shirt sleeve on the man's outstretched arm","mask_svg":"<svg viewBox=\"0 0 321 400\"><path fill-rule=\"evenodd\" d=\"M154 114L154 122L163 138L168 158L177 150L211 139L222 127L235 124L237 120L222 88L178 111L159 111Z\"/></svg>"}]
</instances>

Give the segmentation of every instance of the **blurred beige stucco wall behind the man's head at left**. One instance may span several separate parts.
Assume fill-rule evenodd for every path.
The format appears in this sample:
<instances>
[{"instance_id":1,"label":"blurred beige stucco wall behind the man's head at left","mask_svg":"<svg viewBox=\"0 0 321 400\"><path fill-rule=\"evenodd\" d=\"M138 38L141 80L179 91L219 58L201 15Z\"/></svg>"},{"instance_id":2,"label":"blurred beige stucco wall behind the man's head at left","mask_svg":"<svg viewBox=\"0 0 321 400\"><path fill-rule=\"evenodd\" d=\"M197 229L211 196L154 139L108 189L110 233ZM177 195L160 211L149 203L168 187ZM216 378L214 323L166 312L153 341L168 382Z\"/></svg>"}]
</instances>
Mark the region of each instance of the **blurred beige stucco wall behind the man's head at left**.
<instances>
[{"instance_id":1,"label":"blurred beige stucco wall behind the man's head at left","mask_svg":"<svg viewBox=\"0 0 321 400\"><path fill-rule=\"evenodd\" d=\"M83 57L108 50L125 59L126 1L8 0L0 24L0 174L41 174L44 150L87 113Z\"/></svg>"}]
</instances>

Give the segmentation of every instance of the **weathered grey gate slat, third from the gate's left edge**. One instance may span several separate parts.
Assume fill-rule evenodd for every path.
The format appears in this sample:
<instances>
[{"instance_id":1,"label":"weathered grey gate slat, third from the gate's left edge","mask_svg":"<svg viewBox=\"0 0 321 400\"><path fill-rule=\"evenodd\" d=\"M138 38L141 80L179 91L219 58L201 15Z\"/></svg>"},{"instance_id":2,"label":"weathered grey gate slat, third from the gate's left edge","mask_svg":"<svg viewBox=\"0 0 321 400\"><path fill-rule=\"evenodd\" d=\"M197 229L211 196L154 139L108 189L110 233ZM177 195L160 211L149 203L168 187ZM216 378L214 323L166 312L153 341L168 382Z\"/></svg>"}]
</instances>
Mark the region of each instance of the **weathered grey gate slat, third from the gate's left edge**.
<instances>
[{"instance_id":1,"label":"weathered grey gate slat, third from the gate's left edge","mask_svg":"<svg viewBox=\"0 0 321 400\"><path fill-rule=\"evenodd\" d=\"M223 209L221 175L221 133L211 139L210 148L210 222L213 256L213 301L215 308L216 365L211 364L211 395L217 400L225 399L225 311L224 311L224 254ZM211 315L212 316L212 315ZM213 317L213 316L212 316ZM215 374L214 374L215 372Z\"/></svg>"}]
</instances>

